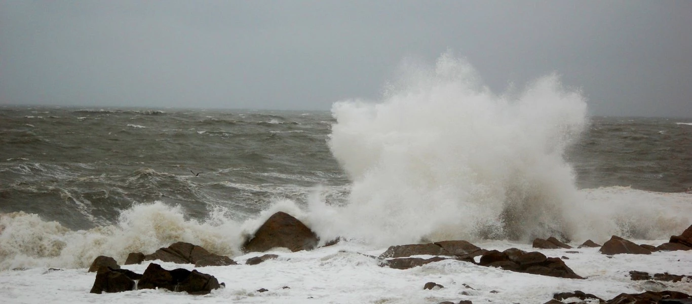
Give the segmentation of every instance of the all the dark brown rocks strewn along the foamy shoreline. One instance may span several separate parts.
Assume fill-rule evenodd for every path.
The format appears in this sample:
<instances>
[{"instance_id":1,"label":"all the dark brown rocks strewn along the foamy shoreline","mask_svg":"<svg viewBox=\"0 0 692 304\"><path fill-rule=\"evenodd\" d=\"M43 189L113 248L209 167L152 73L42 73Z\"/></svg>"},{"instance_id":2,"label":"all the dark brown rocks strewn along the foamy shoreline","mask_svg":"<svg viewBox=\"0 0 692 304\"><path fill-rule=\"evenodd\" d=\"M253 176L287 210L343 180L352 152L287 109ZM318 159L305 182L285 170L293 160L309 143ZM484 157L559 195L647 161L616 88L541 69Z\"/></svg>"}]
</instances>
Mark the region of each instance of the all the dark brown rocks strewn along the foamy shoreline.
<instances>
[{"instance_id":1,"label":"all the dark brown rocks strewn along the foamy shoreline","mask_svg":"<svg viewBox=\"0 0 692 304\"><path fill-rule=\"evenodd\" d=\"M247 240L243 246L245 252L264 252L276 247L284 247L290 251L302 251L315 249L320 240L302 222L287 213L275 213L258 229L253 238ZM325 246L336 244L339 240L327 242ZM533 247L538 249L572 249L557 238L536 239ZM579 246L600 247L599 252L608 257L617 254L650 254L654 251L689 251L692 250L692 226L682 232L681 235L673 235L669 242L653 247L647 244L635 244L629 240L615 235L602 246L587 240ZM577 251L574 251L575 253ZM536 276L552 276L572 280L585 279L568 267L565 260L569 258L548 257L538 251L522 251L509 248L504 251L486 250L464 240L448 240L432 242L428 244L406 244L389 247L380 256L369 256L380 267L392 269L411 269L432 262L452 260L454 262L472 263L482 267L496 267L507 271L515 271ZM254 258L248 258L246 265L257 265L266 260L278 258L275 254L264 254ZM210 253L206 249L194 244L176 242L170 247L161 248L154 253L130 253L125 265L140 264L144 261L160 260L176 264L194 264L195 267L231 266L237 265L233 259L227 256L219 256ZM214 289L224 288L224 283L219 283L215 276L204 274L193 269L163 269L161 265L150 263L143 274L120 269L116 260L107 256L96 258L89 268L96 272L96 278L91 293L123 292L135 289L163 288L173 292L187 292L188 294L208 294ZM652 280L669 282L692 282L692 276L686 274L653 274L632 269L631 280ZM473 287L463 284L464 289ZM289 288L289 287L284 287ZM441 289L444 286L435 282L428 282L421 286L424 289ZM473 289L475 290L475 289ZM266 292L267 290L257 290ZM493 291L491 291L493 292ZM461 292L464 294L464 291ZM466 293L468 294L468 293ZM443 301L439 303L472 303L469 300ZM640 294L620 294L610 300L604 300L593 294L586 294L579 290L573 292L561 292L554 294L547 303L692 303L689 294L674 291L647 291Z\"/></svg>"}]
</instances>

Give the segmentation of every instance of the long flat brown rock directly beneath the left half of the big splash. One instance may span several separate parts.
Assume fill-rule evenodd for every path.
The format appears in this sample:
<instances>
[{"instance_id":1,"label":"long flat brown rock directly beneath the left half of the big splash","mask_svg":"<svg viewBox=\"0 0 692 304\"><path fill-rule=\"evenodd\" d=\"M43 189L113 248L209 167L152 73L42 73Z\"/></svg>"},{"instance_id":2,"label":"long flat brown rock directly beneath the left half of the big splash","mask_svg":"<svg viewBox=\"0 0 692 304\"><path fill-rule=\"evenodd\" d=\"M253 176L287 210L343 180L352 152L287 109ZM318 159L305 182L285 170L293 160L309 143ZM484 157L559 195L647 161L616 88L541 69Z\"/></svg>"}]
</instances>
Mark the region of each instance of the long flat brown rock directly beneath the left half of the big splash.
<instances>
[{"instance_id":1,"label":"long flat brown rock directly beneath the left half of the big splash","mask_svg":"<svg viewBox=\"0 0 692 304\"><path fill-rule=\"evenodd\" d=\"M408 244L389 247L379 258L405 258L408 256L456 256L457 258L473 258L485 253L486 250L464 240L442 241L428 244Z\"/></svg>"}]
</instances>

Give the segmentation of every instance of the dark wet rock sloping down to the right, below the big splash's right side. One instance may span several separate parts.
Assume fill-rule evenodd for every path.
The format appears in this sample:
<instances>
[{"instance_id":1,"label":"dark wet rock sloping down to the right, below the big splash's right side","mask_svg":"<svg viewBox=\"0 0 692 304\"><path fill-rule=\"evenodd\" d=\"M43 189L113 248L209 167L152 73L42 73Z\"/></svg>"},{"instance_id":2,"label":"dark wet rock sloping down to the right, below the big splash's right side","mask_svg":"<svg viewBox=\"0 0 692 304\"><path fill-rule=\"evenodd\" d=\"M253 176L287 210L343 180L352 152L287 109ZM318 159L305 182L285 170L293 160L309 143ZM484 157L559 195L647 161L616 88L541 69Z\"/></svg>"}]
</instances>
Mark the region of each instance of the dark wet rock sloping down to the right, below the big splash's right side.
<instances>
[{"instance_id":1,"label":"dark wet rock sloping down to the right, below the big splash's right side","mask_svg":"<svg viewBox=\"0 0 692 304\"><path fill-rule=\"evenodd\" d=\"M547 258L538 251L526 252L516 248L505 251L492 250L480 258L478 265L500 267L509 271L555 276L558 278L579 278L560 258Z\"/></svg>"}]
</instances>

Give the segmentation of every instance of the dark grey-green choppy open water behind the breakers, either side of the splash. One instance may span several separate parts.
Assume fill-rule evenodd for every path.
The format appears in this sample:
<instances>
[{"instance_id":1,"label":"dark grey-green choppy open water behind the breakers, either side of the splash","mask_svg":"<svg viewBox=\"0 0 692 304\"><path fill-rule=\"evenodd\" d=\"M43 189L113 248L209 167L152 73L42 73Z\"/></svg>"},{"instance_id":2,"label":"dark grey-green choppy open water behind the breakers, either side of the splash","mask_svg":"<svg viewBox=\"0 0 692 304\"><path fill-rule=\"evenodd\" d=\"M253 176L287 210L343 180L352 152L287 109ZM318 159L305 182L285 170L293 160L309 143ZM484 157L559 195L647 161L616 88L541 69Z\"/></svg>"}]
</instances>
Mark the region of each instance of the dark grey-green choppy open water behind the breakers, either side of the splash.
<instances>
[{"instance_id":1,"label":"dark grey-green choppy open water behind the breakers, either side of the splash","mask_svg":"<svg viewBox=\"0 0 692 304\"><path fill-rule=\"evenodd\" d=\"M334 123L327 111L2 107L0 213L89 229L161 201L242 220L275 197L304 202L316 185L345 204L349 177L327 145ZM565 158L579 188L689 191L691 123L592 117Z\"/></svg>"}]
</instances>

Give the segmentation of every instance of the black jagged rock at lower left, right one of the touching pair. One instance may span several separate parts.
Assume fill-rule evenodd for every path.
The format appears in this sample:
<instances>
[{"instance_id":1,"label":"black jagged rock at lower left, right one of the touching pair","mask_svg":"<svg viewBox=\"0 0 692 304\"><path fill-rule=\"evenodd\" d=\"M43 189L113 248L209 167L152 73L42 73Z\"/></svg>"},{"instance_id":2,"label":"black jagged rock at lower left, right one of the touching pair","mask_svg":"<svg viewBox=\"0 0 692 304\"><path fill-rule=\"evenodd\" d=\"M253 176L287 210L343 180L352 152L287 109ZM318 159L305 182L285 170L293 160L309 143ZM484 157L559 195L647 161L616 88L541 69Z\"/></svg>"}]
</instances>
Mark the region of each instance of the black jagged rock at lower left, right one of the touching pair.
<instances>
[{"instance_id":1,"label":"black jagged rock at lower left, right one of the touching pair","mask_svg":"<svg viewBox=\"0 0 692 304\"><path fill-rule=\"evenodd\" d=\"M139 289L165 288L172 292L189 294L208 294L212 289L220 288L214 276L188 269L166 270L156 263L149 264L138 283Z\"/></svg>"}]
</instances>

